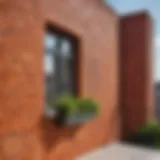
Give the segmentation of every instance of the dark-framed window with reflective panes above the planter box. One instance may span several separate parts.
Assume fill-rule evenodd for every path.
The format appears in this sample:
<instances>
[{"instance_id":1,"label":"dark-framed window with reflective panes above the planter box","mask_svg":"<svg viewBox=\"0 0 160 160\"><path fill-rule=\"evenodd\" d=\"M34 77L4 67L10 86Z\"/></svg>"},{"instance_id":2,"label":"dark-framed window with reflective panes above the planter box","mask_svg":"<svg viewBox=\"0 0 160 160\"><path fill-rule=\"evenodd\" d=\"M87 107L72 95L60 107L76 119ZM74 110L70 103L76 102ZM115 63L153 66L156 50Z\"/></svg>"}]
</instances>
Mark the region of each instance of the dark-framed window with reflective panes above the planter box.
<instances>
[{"instance_id":1,"label":"dark-framed window with reflective panes above the planter box","mask_svg":"<svg viewBox=\"0 0 160 160\"><path fill-rule=\"evenodd\" d=\"M48 29L45 35L44 70L46 103L64 93L76 94L77 42L71 36Z\"/></svg>"}]
</instances>

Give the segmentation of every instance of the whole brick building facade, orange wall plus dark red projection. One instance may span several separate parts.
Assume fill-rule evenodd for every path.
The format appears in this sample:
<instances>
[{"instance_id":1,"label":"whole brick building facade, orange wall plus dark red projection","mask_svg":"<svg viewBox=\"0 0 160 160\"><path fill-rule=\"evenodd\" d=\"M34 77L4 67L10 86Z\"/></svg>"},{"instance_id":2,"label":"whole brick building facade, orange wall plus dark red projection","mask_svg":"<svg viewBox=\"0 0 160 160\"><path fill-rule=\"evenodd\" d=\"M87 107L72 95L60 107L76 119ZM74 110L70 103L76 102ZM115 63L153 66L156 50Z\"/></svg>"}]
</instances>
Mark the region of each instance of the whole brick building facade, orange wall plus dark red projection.
<instances>
[{"instance_id":1,"label":"whole brick building facade, orange wall plus dark red projection","mask_svg":"<svg viewBox=\"0 0 160 160\"><path fill-rule=\"evenodd\" d=\"M124 128L131 133L151 119L151 23L146 12L120 17L102 0L2 0L0 159L75 159L120 140ZM57 71L52 61L52 70L48 66L44 71L44 57L52 50L45 45L48 33L58 35L55 53L62 55L59 40L69 37L76 54L72 66L57 56L53 61L63 59L63 67ZM59 74L46 77L53 68ZM56 128L45 115L50 99L45 83L52 80L56 85L47 89L49 95L65 88L91 97L100 106L100 116L81 127Z\"/></svg>"}]
</instances>

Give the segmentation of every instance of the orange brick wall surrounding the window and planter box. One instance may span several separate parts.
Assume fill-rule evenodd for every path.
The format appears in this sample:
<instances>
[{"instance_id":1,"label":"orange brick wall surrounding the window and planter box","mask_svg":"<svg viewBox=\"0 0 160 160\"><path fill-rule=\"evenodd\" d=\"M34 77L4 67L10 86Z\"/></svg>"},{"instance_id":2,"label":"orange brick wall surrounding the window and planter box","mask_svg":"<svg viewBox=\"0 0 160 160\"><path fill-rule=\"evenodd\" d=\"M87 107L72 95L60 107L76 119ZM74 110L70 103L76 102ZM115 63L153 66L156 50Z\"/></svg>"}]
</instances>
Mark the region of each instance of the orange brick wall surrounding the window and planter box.
<instances>
[{"instance_id":1,"label":"orange brick wall surrounding the window and planter box","mask_svg":"<svg viewBox=\"0 0 160 160\"><path fill-rule=\"evenodd\" d=\"M44 115L46 24L80 40L80 96L97 120L57 129ZM119 135L118 17L98 0L0 1L0 159L71 160Z\"/></svg>"}]
</instances>

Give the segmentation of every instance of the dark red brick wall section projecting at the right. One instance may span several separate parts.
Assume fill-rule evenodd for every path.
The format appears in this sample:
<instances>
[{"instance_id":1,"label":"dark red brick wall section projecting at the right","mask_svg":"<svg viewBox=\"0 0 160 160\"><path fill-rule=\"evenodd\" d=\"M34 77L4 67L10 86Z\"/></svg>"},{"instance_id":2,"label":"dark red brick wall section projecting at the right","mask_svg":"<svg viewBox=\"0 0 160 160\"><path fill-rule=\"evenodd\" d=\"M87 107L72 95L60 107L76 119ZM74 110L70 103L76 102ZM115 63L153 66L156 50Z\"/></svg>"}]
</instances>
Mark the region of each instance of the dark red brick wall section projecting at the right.
<instances>
[{"instance_id":1,"label":"dark red brick wall section projecting at the right","mask_svg":"<svg viewBox=\"0 0 160 160\"><path fill-rule=\"evenodd\" d=\"M147 12L121 17L121 110L123 131L153 118L152 22Z\"/></svg>"}]
</instances>

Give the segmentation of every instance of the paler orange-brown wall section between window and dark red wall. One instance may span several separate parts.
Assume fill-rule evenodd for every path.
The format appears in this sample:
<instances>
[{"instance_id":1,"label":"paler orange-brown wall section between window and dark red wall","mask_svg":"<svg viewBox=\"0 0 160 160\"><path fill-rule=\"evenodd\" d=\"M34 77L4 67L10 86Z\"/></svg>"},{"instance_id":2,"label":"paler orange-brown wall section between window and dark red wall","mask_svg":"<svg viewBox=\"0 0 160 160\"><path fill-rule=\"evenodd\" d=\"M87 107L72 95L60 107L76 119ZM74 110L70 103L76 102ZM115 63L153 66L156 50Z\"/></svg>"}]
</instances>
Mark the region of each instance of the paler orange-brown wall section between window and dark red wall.
<instances>
[{"instance_id":1,"label":"paler orange-brown wall section between window and dark red wall","mask_svg":"<svg viewBox=\"0 0 160 160\"><path fill-rule=\"evenodd\" d=\"M72 131L69 138L62 134L63 140L50 147L49 159L70 160L118 137L119 21L98 0L47 0L44 5L45 19L51 25L80 40L80 95L93 97L101 107L96 121ZM54 138L51 135L49 141Z\"/></svg>"}]
</instances>

